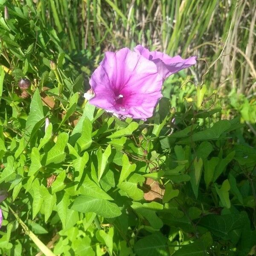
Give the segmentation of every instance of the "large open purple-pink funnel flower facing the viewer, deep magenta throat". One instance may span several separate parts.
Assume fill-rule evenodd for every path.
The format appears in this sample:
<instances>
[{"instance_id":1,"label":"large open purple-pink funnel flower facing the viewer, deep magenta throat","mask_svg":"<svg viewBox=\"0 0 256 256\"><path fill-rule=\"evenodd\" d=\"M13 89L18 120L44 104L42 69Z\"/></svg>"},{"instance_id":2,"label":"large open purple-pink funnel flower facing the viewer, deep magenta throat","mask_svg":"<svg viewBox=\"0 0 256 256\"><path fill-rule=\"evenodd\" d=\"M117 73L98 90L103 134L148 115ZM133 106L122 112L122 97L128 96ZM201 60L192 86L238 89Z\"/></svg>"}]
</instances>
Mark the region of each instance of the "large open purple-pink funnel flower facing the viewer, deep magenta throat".
<instances>
[{"instance_id":1,"label":"large open purple-pink funnel flower facing the viewer, deep magenta throat","mask_svg":"<svg viewBox=\"0 0 256 256\"><path fill-rule=\"evenodd\" d=\"M106 52L90 79L95 97L90 104L117 116L145 120L162 97L157 66L128 48Z\"/></svg>"}]
</instances>

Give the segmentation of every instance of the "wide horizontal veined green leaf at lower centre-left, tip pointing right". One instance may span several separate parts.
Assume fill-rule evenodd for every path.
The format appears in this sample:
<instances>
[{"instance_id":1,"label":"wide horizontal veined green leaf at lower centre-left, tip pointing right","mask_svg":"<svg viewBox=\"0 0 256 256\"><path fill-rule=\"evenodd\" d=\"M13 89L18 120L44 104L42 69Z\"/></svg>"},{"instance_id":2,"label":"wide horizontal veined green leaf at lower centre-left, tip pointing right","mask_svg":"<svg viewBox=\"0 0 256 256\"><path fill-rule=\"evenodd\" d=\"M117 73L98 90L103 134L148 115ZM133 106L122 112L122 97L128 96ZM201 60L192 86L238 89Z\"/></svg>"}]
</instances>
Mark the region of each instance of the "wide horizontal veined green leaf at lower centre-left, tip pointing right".
<instances>
[{"instance_id":1,"label":"wide horizontal veined green leaf at lower centre-left, tip pointing right","mask_svg":"<svg viewBox=\"0 0 256 256\"><path fill-rule=\"evenodd\" d=\"M96 212L104 218L114 218L121 215L119 207L105 199L80 195L75 199L71 209L78 212Z\"/></svg>"}]
</instances>

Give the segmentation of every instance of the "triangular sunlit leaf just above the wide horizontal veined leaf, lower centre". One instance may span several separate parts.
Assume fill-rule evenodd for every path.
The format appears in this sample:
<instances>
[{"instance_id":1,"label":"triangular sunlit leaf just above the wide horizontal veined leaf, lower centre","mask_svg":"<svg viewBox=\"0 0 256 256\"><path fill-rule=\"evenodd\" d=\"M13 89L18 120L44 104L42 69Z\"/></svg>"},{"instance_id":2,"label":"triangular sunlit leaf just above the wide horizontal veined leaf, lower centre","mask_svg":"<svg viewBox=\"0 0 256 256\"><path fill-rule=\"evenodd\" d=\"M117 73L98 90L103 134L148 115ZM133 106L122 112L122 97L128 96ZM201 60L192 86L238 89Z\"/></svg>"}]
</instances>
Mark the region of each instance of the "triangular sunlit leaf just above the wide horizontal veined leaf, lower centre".
<instances>
[{"instance_id":1,"label":"triangular sunlit leaf just above the wide horizontal veined leaf, lower centre","mask_svg":"<svg viewBox=\"0 0 256 256\"><path fill-rule=\"evenodd\" d=\"M88 175L84 179L84 183L79 187L79 193L81 195L87 195L99 199L113 200L103 189L101 189L95 182L90 180Z\"/></svg>"}]
</instances>

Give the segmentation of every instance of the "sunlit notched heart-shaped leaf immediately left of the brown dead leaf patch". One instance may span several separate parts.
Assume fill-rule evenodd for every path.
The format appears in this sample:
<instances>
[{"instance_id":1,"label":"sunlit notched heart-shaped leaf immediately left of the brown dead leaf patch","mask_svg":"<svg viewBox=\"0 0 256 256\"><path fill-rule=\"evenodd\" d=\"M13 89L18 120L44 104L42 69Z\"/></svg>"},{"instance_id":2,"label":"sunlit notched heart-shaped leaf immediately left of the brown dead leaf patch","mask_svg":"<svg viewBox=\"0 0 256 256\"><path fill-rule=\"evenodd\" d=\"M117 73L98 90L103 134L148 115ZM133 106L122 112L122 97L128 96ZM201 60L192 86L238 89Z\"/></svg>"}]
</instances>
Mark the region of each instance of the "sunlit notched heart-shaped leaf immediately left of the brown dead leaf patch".
<instances>
[{"instance_id":1,"label":"sunlit notched heart-shaped leaf immediately left of the brown dead leaf patch","mask_svg":"<svg viewBox=\"0 0 256 256\"><path fill-rule=\"evenodd\" d=\"M137 183L144 182L145 178L137 173L134 173L128 181L123 181L117 187L122 189L130 198L135 201L140 201L143 198L144 192L138 189Z\"/></svg>"}]
</instances>

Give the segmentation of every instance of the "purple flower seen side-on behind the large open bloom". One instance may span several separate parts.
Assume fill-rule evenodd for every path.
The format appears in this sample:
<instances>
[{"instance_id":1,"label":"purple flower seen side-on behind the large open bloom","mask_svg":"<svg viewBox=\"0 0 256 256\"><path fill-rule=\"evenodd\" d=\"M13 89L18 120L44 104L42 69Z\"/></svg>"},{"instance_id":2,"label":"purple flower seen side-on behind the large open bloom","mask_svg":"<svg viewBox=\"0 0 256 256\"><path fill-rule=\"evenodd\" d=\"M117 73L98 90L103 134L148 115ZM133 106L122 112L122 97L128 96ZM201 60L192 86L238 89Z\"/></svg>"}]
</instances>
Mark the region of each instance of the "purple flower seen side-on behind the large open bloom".
<instances>
[{"instance_id":1,"label":"purple flower seen side-on behind the large open bloom","mask_svg":"<svg viewBox=\"0 0 256 256\"><path fill-rule=\"evenodd\" d=\"M137 45L134 48L134 51L138 52L148 60L153 61L157 66L158 73L163 77L163 79L166 79L167 77L177 73L180 70L183 70L184 68L195 65L197 59L196 56L192 56L187 59L183 59L179 55L170 57L163 52L150 52L148 49L141 45Z\"/></svg>"}]
</instances>

